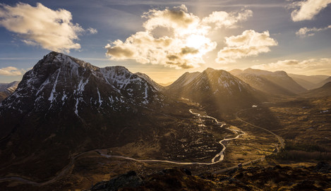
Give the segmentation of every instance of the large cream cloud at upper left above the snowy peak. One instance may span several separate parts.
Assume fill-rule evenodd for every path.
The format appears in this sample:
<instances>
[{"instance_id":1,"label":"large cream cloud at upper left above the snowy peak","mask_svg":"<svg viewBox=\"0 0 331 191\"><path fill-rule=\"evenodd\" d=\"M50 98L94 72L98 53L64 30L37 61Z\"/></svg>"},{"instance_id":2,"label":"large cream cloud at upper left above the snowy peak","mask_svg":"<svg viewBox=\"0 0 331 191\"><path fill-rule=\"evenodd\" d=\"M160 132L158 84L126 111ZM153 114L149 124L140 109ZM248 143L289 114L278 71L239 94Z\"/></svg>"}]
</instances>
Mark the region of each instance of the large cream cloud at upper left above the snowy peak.
<instances>
[{"instance_id":1,"label":"large cream cloud at upper left above the snowy peak","mask_svg":"<svg viewBox=\"0 0 331 191\"><path fill-rule=\"evenodd\" d=\"M80 49L78 35L85 30L71 23L72 16L64 9L52 10L37 3L37 6L18 3L16 6L0 4L0 25L15 32L25 44L40 45L44 49L69 52ZM95 34L97 30L89 28Z\"/></svg>"}]
</instances>

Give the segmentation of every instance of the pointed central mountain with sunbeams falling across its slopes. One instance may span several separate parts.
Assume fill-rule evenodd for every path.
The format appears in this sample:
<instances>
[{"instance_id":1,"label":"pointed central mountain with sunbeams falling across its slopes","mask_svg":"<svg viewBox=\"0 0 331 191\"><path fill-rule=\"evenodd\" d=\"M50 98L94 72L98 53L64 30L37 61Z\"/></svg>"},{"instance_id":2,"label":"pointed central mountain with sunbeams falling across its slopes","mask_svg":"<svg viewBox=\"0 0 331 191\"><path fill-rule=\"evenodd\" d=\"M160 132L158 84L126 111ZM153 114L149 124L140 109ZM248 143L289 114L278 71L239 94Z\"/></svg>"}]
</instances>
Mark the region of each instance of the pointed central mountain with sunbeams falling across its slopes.
<instances>
[{"instance_id":1,"label":"pointed central mountain with sunbeams falling across its slopes","mask_svg":"<svg viewBox=\"0 0 331 191\"><path fill-rule=\"evenodd\" d=\"M184 73L167 94L198 102L215 116L257 104L262 93L225 70L207 68L203 73Z\"/></svg>"}]
</instances>

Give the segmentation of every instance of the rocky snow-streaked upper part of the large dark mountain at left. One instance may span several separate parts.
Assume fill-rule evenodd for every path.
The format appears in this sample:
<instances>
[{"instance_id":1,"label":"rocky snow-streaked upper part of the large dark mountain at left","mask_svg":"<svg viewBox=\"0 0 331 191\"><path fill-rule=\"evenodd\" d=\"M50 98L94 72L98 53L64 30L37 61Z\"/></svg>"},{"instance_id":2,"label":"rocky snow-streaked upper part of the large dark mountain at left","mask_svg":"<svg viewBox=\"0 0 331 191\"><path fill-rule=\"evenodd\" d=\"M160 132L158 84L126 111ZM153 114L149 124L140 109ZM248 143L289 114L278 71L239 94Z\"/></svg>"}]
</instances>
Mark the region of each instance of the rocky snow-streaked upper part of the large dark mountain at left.
<instances>
[{"instance_id":1,"label":"rocky snow-streaked upper part of the large dark mountain at left","mask_svg":"<svg viewBox=\"0 0 331 191\"><path fill-rule=\"evenodd\" d=\"M134 109L162 99L152 85L122 66L98 68L64 54L51 52L25 73L16 92L2 102L1 115L43 112L80 113Z\"/></svg>"}]
</instances>

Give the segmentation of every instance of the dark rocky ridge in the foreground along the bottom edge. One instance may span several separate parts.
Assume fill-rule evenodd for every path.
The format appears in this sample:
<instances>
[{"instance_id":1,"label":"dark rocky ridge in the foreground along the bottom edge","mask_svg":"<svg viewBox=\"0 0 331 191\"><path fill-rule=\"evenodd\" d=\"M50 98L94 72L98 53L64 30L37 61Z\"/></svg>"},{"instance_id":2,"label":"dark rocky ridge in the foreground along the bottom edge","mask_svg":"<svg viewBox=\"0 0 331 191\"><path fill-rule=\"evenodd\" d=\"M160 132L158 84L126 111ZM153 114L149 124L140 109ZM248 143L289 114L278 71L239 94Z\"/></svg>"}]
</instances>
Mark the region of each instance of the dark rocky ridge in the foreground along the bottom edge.
<instances>
[{"instance_id":1,"label":"dark rocky ridge in the foreground along the bottom edge","mask_svg":"<svg viewBox=\"0 0 331 191\"><path fill-rule=\"evenodd\" d=\"M95 190L328 190L331 166L320 162L310 167L248 167L224 174L192 175L183 168L167 168L149 175L135 171L102 181Z\"/></svg>"}]
</instances>

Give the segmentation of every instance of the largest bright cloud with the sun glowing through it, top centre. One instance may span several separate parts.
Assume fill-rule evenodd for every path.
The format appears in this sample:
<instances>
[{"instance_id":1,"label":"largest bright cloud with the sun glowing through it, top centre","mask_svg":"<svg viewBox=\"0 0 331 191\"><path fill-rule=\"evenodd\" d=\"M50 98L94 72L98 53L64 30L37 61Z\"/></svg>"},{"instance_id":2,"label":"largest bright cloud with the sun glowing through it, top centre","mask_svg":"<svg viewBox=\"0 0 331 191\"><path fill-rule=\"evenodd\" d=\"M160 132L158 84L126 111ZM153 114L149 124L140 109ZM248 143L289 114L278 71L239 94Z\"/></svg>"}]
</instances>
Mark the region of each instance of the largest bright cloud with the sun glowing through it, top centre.
<instances>
[{"instance_id":1,"label":"largest bright cloud with the sun glowing through it, top centre","mask_svg":"<svg viewBox=\"0 0 331 191\"><path fill-rule=\"evenodd\" d=\"M105 46L111 60L133 59L139 63L162 64L175 68L195 68L205 63L203 56L216 48L208 35L221 27L234 27L252 16L252 11L239 13L213 12L200 19L188 13L186 6L143 13L147 20L143 31L124 42L116 39ZM217 18L217 16L222 16Z\"/></svg>"}]
</instances>

